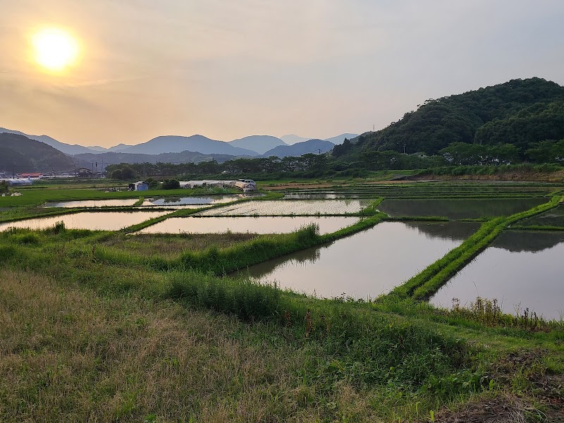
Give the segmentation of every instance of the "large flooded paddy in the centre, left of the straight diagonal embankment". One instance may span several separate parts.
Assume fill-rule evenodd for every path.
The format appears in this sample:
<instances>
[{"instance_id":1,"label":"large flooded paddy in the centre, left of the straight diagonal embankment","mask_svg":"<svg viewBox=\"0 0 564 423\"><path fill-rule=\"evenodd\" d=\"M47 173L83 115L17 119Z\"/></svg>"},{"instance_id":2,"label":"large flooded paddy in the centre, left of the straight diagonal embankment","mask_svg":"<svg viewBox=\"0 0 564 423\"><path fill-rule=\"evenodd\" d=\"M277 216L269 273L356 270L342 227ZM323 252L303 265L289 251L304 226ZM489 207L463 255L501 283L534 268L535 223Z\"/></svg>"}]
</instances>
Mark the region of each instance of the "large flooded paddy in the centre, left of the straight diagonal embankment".
<instances>
[{"instance_id":1,"label":"large flooded paddy in the centre, left of the straight diagonal embankment","mask_svg":"<svg viewBox=\"0 0 564 423\"><path fill-rule=\"evenodd\" d=\"M320 297L375 298L388 293L457 247L479 227L476 223L384 222L374 228L269 260L233 276Z\"/></svg>"}]
</instances>

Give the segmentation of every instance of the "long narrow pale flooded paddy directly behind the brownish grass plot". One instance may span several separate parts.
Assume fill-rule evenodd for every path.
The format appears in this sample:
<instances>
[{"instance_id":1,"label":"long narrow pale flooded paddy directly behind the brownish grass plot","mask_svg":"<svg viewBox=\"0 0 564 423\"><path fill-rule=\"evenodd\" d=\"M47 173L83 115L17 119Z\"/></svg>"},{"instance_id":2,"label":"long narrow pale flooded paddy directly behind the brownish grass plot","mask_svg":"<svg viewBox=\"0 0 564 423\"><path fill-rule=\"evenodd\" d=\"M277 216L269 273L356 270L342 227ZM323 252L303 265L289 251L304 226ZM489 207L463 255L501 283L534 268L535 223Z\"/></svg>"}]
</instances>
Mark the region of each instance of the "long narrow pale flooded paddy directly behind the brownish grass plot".
<instances>
[{"instance_id":1,"label":"long narrow pale flooded paddy directly behind the brownish grass plot","mask_svg":"<svg viewBox=\"0 0 564 423\"><path fill-rule=\"evenodd\" d=\"M319 233L331 233L353 225L357 217L171 217L137 233L289 233L317 223Z\"/></svg>"}]
</instances>

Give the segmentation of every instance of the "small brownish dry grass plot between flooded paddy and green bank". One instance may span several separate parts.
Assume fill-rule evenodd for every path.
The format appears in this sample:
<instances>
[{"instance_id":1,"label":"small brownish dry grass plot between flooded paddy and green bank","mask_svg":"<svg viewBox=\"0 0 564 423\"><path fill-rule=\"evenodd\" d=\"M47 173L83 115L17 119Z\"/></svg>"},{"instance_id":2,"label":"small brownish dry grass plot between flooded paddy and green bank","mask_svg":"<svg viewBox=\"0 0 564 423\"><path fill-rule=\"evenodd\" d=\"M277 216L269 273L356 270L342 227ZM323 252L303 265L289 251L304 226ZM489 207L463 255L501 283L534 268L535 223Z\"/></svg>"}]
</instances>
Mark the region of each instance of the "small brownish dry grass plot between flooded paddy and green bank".
<instances>
[{"instance_id":1,"label":"small brownish dry grass plot between flooded paddy and green bank","mask_svg":"<svg viewBox=\"0 0 564 423\"><path fill-rule=\"evenodd\" d=\"M127 250L145 257L159 256L175 258L185 251L206 250L209 247L231 247L243 241L257 238L252 233L194 233L194 234L139 234L121 235L106 240L104 245Z\"/></svg>"}]
</instances>

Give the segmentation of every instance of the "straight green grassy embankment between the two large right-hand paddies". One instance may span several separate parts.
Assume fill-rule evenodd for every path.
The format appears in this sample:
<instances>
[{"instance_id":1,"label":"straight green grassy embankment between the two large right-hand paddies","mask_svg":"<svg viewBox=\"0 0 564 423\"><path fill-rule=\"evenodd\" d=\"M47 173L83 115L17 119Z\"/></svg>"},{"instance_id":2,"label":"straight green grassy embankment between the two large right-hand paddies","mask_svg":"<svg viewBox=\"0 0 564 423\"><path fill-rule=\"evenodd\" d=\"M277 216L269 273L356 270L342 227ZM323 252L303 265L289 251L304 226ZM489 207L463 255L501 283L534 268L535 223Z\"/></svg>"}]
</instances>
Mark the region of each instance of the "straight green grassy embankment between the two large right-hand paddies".
<instances>
[{"instance_id":1,"label":"straight green grassy embankment between the two large right-hand paddies","mask_svg":"<svg viewBox=\"0 0 564 423\"><path fill-rule=\"evenodd\" d=\"M390 295L398 298L412 297L427 300L443 286L448 279L458 273L479 252L482 252L510 224L546 212L558 206L560 197L553 197L550 202L541 204L525 212L508 217L498 217L486 221L479 230L467 238L460 246L448 252L421 273L415 275L403 285L393 289Z\"/></svg>"}]
</instances>

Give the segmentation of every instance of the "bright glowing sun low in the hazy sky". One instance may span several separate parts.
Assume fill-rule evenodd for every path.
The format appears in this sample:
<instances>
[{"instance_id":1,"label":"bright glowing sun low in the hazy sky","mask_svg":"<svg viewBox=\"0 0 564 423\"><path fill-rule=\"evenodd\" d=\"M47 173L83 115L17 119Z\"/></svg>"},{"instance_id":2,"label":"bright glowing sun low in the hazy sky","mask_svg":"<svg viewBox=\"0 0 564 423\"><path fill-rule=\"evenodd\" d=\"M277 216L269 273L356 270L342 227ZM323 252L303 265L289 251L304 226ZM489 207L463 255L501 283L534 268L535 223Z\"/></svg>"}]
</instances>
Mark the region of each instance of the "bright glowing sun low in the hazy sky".
<instances>
[{"instance_id":1,"label":"bright glowing sun low in the hazy sky","mask_svg":"<svg viewBox=\"0 0 564 423\"><path fill-rule=\"evenodd\" d=\"M59 28L44 28L32 37L35 61L48 71L60 72L78 59L78 42Z\"/></svg>"}]
</instances>

